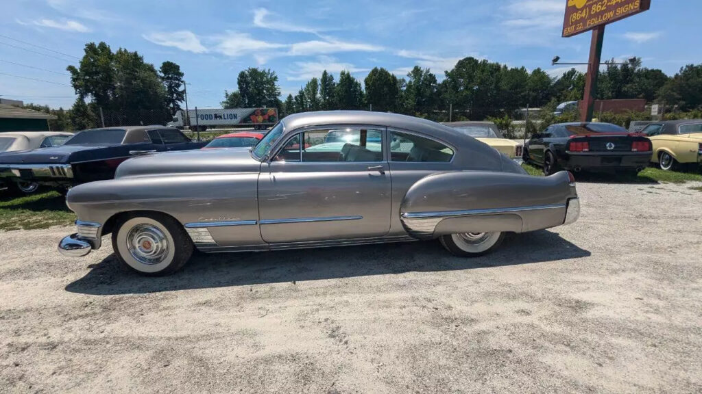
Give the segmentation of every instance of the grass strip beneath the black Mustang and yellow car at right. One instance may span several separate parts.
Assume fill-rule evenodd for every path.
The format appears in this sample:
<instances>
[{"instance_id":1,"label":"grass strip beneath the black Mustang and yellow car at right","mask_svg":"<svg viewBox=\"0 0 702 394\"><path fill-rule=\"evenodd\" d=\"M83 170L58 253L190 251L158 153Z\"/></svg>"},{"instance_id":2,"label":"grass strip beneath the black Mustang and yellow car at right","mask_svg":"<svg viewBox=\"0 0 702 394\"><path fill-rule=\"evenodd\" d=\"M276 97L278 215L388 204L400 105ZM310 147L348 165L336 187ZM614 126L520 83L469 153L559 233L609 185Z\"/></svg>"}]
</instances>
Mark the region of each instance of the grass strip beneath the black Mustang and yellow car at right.
<instances>
[{"instance_id":1,"label":"grass strip beneath the black Mustang and yellow car at right","mask_svg":"<svg viewBox=\"0 0 702 394\"><path fill-rule=\"evenodd\" d=\"M522 168L529 175L536 177L543 176L541 168L536 168L533 165L522 164ZM702 175L698 172L678 172L678 171L663 171L659 168L644 168L642 172L634 177L633 175L621 175L609 172L602 173L578 173L575 175L576 180L585 182L621 182L621 183L675 183L682 184L685 182L702 182Z\"/></svg>"}]
</instances>

